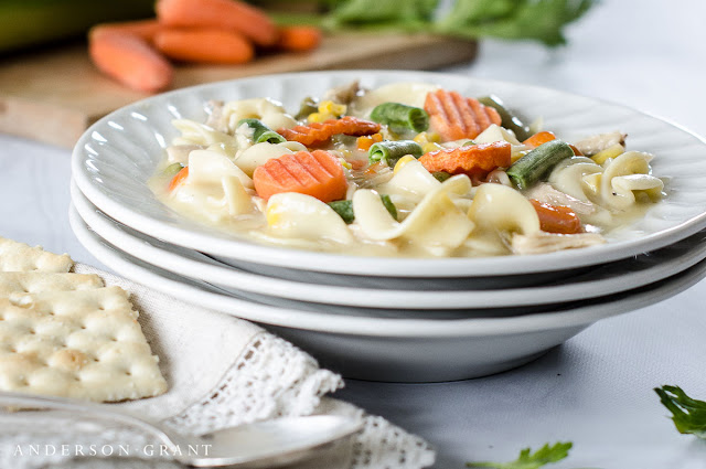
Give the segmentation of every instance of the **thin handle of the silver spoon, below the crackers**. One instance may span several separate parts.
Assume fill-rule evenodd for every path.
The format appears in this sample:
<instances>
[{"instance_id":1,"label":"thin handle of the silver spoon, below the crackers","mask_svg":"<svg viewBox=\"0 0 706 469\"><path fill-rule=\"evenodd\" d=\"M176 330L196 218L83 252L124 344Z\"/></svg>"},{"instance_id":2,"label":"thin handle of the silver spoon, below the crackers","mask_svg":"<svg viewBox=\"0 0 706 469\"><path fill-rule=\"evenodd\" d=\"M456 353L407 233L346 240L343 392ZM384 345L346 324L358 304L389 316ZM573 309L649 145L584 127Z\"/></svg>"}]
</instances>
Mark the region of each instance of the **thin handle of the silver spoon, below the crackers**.
<instances>
[{"instance_id":1,"label":"thin handle of the silver spoon, below the crackers","mask_svg":"<svg viewBox=\"0 0 706 469\"><path fill-rule=\"evenodd\" d=\"M150 435L158 437L164 445L168 445L170 448L173 448L175 446L171 438L153 424L130 415L125 411L108 409L106 408L106 405L67 399L63 397L0 392L0 407L10 407L13 411L46 409L64 411L72 414L83 414L93 418L101 418L105 420L137 427Z\"/></svg>"}]
</instances>

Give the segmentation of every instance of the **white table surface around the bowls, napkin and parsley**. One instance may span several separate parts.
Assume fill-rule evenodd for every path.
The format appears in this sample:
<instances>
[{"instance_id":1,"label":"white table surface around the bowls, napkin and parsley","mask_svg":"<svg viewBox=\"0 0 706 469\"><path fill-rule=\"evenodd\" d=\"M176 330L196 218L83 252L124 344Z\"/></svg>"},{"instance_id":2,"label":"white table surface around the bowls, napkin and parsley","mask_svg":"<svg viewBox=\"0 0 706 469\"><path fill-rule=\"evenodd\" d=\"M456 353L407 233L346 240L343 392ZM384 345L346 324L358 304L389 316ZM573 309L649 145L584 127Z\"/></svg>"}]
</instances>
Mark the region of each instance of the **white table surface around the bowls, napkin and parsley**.
<instances>
[{"instance_id":1,"label":"white table surface around the bowls, napkin and parsley","mask_svg":"<svg viewBox=\"0 0 706 469\"><path fill-rule=\"evenodd\" d=\"M703 0L605 0L570 28L566 49L485 41L473 64L452 72L600 97L706 135L705 18ZM68 226L67 150L0 135L0 168L1 236L100 266ZM676 384L706 399L705 300L702 281L500 375L349 381L338 396L425 437L438 468L506 461L558 440L574 449L556 469L706 468L706 441L680 435L652 391Z\"/></svg>"}]
</instances>

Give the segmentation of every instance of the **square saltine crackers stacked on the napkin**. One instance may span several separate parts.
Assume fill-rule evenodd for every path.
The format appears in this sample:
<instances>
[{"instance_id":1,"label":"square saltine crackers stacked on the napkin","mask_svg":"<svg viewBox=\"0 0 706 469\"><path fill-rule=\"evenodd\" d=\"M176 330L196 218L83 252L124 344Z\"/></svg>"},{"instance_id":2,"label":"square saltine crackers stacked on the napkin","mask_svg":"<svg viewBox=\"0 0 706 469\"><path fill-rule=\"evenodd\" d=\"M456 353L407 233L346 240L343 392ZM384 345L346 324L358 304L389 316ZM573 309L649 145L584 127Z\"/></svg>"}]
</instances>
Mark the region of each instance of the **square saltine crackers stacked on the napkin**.
<instances>
[{"instance_id":1,"label":"square saltine crackers stacked on the napkin","mask_svg":"<svg viewBox=\"0 0 706 469\"><path fill-rule=\"evenodd\" d=\"M128 294L0 237L0 391L95 402L167 391Z\"/></svg>"}]
</instances>

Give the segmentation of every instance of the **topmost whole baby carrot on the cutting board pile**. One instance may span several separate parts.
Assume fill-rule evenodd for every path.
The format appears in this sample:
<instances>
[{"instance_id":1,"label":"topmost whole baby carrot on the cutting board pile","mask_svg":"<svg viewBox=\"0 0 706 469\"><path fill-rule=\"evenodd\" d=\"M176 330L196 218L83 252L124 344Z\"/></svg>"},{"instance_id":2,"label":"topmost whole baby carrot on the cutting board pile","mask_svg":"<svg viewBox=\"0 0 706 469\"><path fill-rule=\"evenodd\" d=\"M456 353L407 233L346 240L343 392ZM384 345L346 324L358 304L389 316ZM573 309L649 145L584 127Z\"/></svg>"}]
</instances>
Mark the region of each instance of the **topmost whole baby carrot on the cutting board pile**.
<instances>
[{"instance_id":1,"label":"topmost whole baby carrot on the cutting board pile","mask_svg":"<svg viewBox=\"0 0 706 469\"><path fill-rule=\"evenodd\" d=\"M263 10L237 0L158 0L156 9L167 26L233 30L257 45L274 45L279 36Z\"/></svg>"}]
</instances>

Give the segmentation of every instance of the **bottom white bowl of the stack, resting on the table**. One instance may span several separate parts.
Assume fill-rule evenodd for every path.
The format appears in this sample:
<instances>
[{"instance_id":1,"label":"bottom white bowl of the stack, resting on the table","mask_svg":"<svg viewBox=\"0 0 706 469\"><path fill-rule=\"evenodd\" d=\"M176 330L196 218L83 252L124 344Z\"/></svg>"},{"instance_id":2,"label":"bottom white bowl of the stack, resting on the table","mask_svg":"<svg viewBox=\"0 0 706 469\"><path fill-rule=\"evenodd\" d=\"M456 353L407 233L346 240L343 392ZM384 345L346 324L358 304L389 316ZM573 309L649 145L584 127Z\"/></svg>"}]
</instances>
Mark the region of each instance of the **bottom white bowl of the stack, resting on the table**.
<instances>
[{"instance_id":1,"label":"bottom white bowl of the stack, resting on the table","mask_svg":"<svg viewBox=\"0 0 706 469\"><path fill-rule=\"evenodd\" d=\"M510 370L591 323L667 299L706 276L706 262L668 279L582 306L506 318L402 319L276 308L214 291L150 266L93 233L72 209L76 237L118 274L186 302L259 322L347 377L397 382L463 380ZM569 303L571 305L571 303Z\"/></svg>"}]
</instances>

